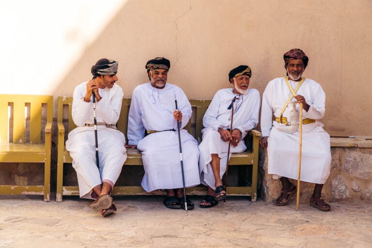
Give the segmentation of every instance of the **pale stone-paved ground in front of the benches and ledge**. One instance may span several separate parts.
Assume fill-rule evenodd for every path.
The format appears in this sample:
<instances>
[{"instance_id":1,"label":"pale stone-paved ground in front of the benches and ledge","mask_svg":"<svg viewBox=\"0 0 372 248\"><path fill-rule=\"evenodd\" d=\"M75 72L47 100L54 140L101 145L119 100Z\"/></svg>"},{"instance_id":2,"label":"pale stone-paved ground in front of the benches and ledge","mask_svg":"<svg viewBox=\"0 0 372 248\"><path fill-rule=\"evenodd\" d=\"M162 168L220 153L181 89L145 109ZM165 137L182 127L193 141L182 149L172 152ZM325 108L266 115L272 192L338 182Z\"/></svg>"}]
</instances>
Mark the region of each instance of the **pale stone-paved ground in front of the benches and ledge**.
<instances>
[{"instance_id":1,"label":"pale stone-paved ground in front of the benches and ledge","mask_svg":"<svg viewBox=\"0 0 372 248\"><path fill-rule=\"evenodd\" d=\"M277 207L230 197L191 211L163 206L162 196L116 197L103 218L90 201L0 196L0 247L8 248L371 248L372 204L331 203L321 212L295 201ZM201 197L191 197L199 203Z\"/></svg>"}]
</instances>

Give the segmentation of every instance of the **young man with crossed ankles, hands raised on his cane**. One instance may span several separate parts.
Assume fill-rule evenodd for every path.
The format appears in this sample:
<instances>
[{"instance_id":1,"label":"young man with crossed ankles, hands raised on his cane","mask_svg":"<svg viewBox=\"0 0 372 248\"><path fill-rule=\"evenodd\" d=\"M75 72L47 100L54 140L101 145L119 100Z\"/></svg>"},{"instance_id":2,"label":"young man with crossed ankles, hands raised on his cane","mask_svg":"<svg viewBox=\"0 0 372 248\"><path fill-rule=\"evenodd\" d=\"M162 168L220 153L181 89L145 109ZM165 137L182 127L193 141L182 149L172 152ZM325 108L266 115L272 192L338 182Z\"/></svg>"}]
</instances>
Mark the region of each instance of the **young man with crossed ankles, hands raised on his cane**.
<instances>
[{"instance_id":1,"label":"young man with crossed ankles, hands raised on his cane","mask_svg":"<svg viewBox=\"0 0 372 248\"><path fill-rule=\"evenodd\" d=\"M91 68L93 79L74 90L72 118L78 126L68 134L66 150L78 175L81 198L95 199L94 211L108 216L116 211L111 190L126 160L124 134L116 130L122 107L123 90L115 82L118 62L100 59ZM99 169L95 159L93 93L95 93Z\"/></svg>"}]
</instances>

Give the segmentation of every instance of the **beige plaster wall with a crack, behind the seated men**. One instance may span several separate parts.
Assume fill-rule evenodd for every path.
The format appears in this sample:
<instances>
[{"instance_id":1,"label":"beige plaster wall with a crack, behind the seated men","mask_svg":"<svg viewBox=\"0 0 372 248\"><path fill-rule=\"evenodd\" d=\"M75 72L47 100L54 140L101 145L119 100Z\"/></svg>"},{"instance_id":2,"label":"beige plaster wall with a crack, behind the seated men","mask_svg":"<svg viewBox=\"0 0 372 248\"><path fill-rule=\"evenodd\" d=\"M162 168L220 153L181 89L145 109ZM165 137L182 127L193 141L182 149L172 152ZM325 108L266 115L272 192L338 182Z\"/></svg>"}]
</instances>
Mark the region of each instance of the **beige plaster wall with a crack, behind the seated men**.
<instances>
[{"instance_id":1,"label":"beige plaster wall with a crack, behind the seated men","mask_svg":"<svg viewBox=\"0 0 372 248\"><path fill-rule=\"evenodd\" d=\"M282 55L303 49L305 77L327 95L325 129L371 135L371 0L8 1L0 10L0 93L72 95L102 57L119 61L130 97L148 80L147 60L171 60L169 82L189 98L230 87L228 72L253 71L260 93L285 75Z\"/></svg>"}]
</instances>

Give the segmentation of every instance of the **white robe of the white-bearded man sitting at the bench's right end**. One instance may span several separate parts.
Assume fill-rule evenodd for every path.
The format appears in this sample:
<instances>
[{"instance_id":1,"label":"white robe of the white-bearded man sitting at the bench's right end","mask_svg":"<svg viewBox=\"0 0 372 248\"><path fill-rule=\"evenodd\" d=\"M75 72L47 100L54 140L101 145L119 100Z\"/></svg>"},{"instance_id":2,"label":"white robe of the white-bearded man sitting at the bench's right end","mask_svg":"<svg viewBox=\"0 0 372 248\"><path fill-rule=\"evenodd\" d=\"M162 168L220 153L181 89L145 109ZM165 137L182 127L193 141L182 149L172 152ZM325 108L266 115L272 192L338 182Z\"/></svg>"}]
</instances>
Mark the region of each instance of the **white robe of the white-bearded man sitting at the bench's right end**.
<instances>
[{"instance_id":1,"label":"white robe of the white-bearded man sitting at the bench's right end","mask_svg":"<svg viewBox=\"0 0 372 248\"><path fill-rule=\"evenodd\" d=\"M229 142L221 140L218 128L230 129L231 127L231 101L234 97L240 97L234 102L233 129L242 132L241 140L236 147L230 147L230 153L241 153L247 149L244 137L249 130L258 124L260 111L260 93L256 89L249 89L244 95L233 93L233 89L219 90L213 97L211 104L203 117L204 129L202 130L202 142L199 145L199 171L203 185L215 189L215 177L212 171L212 154L218 154L220 158L220 176L226 171L227 152Z\"/></svg>"}]
</instances>

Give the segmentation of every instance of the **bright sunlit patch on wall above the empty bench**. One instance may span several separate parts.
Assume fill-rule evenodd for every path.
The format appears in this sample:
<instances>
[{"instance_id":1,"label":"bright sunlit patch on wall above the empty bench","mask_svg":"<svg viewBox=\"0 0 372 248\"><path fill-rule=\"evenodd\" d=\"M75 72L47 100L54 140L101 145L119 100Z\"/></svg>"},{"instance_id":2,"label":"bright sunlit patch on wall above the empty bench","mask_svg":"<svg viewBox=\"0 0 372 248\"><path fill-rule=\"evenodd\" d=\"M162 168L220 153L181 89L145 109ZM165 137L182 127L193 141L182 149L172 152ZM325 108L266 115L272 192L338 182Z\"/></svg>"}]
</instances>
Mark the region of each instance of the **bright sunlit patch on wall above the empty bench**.
<instances>
[{"instance_id":1,"label":"bright sunlit patch on wall above the empty bench","mask_svg":"<svg viewBox=\"0 0 372 248\"><path fill-rule=\"evenodd\" d=\"M3 2L0 93L52 94L126 1Z\"/></svg>"}]
</instances>

